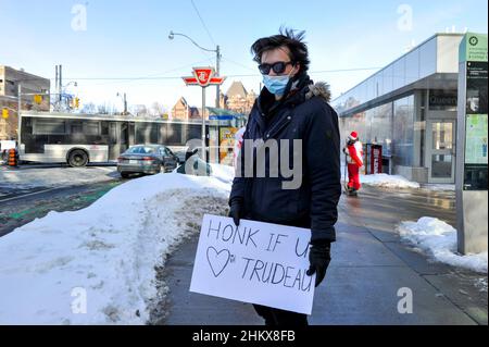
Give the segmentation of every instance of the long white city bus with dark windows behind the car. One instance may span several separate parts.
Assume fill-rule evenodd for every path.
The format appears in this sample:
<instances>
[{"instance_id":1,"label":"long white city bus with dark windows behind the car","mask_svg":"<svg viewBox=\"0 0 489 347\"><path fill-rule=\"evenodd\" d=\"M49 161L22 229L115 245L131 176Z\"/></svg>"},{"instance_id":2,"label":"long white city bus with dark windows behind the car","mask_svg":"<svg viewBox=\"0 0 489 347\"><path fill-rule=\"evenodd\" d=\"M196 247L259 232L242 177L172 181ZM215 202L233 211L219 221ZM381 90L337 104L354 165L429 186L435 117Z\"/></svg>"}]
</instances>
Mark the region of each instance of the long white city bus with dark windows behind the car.
<instances>
[{"instance_id":1,"label":"long white city bus with dark windows behind the car","mask_svg":"<svg viewBox=\"0 0 489 347\"><path fill-rule=\"evenodd\" d=\"M193 138L201 138L199 120L27 111L21 113L20 160L85 166L114 162L138 144L162 144L179 153Z\"/></svg>"}]
</instances>

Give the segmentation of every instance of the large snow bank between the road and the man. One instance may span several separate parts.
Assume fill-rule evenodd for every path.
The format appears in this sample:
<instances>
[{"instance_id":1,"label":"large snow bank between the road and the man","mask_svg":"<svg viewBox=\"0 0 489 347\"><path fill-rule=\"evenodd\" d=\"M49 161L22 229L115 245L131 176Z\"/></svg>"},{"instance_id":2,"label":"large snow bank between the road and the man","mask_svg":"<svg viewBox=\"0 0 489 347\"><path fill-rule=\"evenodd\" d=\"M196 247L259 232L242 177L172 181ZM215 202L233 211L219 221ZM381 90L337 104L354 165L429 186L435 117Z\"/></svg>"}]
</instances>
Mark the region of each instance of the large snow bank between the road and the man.
<instances>
[{"instance_id":1,"label":"large snow bank between the road and the man","mask_svg":"<svg viewBox=\"0 0 489 347\"><path fill-rule=\"evenodd\" d=\"M147 323L162 296L155 268L203 213L224 212L229 172L133 179L0 238L0 324Z\"/></svg>"}]
</instances>

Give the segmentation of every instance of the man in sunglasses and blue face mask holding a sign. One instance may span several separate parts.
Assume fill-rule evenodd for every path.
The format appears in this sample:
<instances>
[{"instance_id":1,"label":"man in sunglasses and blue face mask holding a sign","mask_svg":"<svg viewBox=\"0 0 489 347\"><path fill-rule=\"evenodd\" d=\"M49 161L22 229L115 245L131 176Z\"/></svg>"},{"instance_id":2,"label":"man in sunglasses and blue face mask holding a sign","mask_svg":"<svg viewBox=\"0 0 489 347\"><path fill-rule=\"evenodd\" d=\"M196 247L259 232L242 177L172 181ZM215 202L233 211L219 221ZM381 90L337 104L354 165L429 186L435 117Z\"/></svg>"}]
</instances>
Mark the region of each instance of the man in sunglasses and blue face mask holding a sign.
<instances>
[{"instance_id":1,"label":"man in sunglasses and blue face mask holding a sign","mask_svg":"<svg viewBox=\"0 0 489 347\"><path fill-rule=\"evenodd\" d=\"M330 244L336 240L334 225L341 195L340 137L338 115L327 103L328 85L313 84L308 76L310 60L303 36L303 32L285 29L279 35L256 40L251 47L265 87L252 108L243 134L240 168L229 197L229 216L236 225L244 218L311 228L308 275L316 273L317 286L330 261ZM247 140L275 141L280 160L284 147L291 153L299 140L300 160L292 158L292 168L301 169L299 187L285 188L284 183L288 181L284 173L273 174L273 163L277 165L279 159L274 158L272 150L264 154L265 176L256 174L260 170L254 164L260 166L256 162L260 145L250 149ZM305 314L260 305L254 308L266 325L308 324Z\"/></svg>"}]
</instances>

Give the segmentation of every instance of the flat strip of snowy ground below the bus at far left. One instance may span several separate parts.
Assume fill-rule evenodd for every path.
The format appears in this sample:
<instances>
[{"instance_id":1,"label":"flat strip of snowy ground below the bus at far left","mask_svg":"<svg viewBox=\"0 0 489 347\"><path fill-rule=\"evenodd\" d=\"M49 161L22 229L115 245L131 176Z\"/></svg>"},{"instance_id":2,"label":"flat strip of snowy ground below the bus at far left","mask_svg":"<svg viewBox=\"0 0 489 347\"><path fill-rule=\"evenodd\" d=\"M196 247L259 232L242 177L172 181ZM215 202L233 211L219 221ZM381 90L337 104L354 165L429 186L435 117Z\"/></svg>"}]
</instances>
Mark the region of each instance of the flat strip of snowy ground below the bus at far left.
<instances>
[{"instance_id":1,"label":"flat strip of snowy ground below the bus at far left","mask_svg":"<svg viewBox=\"0 0 489 347\"><path fill-rule=\"evenodd\" d=\"M120 177L115 166L33 168L8 170L0 168L0 188L32 189L83 185Z\"/></svg>"}]
</instances>

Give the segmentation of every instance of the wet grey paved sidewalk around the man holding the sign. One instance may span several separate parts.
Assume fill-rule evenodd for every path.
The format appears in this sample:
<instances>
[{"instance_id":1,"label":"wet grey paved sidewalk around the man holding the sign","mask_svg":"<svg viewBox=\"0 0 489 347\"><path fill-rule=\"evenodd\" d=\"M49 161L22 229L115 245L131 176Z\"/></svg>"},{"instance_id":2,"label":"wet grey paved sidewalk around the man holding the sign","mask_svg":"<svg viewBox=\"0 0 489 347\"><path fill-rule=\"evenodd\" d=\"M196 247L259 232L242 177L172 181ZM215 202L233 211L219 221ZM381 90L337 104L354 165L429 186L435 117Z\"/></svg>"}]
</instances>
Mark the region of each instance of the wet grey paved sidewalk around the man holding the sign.
<instances>
[{"instance_id":1,"label":"wet grey paved sidewalk around the man holding the sign","mask_svg":"<svg viewBox=\"0 0 489 347\"><path fill-rule=\"evenodd\" d=\"M421 216L454 226L453 191L342 195L333 261L316 288L310 324L488 324L487 286L476 286L487 275L435 263L400 240L396 225ZM192 237L167 260L167 315L159 323L262 325L251 305L189 293L197 241ZM404 287L413 293L413 313L398 312Z\"/></svg>"}]
</instances>

